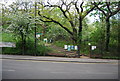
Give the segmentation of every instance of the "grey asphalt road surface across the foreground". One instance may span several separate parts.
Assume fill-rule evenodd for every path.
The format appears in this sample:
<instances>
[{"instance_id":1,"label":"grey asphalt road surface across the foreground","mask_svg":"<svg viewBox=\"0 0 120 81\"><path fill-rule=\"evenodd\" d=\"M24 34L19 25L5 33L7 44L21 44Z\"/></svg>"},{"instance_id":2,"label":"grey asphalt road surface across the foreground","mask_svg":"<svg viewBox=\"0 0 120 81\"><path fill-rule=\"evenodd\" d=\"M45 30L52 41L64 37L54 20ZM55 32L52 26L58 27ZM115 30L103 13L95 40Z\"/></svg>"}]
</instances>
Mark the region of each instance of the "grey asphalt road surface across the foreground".
<instances>
[{"instance_id":1,"label":"grey asphalt road surface across the foreground","mask_svg":"<svg viewBox=\"0 0 120 81\"><path fill-rule=\"evenodd\" d=\"M2 60L3 79L118 79L118 65Z\"/></svg>"}]
</instances>

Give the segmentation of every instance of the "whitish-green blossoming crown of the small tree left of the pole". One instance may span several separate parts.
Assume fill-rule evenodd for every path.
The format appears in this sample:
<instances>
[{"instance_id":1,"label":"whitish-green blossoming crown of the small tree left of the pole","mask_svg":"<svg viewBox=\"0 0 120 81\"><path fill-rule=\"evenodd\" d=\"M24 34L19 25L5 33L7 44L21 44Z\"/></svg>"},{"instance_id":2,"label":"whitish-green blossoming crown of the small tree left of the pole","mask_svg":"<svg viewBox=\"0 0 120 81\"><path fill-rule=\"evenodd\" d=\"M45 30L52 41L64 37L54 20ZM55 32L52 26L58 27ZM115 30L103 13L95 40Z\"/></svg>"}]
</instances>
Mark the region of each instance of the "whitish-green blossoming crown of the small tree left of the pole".
<instances>
[{"instance_id":1,"label":"whitish-green blossoming crown of the small tree left of the pole","mask_svg":"<svg viewBox=\"0 0 120 81\"><path fill-rule=\"evenodd\" d=\"M13 14L11 15L11 24L8 30L16 34L18 37L21 37L21 34L29 36L33 29L32 22L33 21L29 19L28 14Z\"/></svg>"}]
</instances>

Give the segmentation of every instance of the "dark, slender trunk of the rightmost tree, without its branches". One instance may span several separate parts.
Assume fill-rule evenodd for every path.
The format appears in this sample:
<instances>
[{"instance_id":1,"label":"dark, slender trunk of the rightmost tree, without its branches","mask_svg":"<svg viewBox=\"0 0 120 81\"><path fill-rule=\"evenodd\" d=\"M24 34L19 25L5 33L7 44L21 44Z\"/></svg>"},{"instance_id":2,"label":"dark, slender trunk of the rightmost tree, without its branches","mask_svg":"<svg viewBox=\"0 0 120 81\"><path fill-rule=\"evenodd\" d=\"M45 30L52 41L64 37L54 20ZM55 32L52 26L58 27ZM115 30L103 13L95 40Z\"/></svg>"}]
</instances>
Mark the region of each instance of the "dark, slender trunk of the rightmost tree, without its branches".
<instances>
[{"instance_id":1,"label":"dark, slender trunk of the rightmost tree, without its branches","mask_svg":"<svg viewBox=\"0 0 120 81\"><path fill-rule=\"evenodd\" d=\"M105 50L109 51L109 42L110 42L110 18L106 19L106 46L105 46Z\"/></svg>"}]
</instances>

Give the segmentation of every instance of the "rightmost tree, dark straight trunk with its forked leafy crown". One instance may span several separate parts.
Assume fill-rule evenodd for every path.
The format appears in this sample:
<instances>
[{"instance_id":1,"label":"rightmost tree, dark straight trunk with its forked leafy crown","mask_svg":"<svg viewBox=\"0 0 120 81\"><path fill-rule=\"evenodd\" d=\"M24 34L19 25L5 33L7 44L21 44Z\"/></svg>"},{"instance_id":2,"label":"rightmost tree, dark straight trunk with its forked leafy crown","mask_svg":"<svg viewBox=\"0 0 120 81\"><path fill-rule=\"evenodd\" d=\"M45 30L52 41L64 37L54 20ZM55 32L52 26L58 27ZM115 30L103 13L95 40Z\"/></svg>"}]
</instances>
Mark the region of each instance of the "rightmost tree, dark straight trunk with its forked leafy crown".
<instances>
[{"instance_id":1,"label":"rightmost tree, dark straight trunk with its forked leafy crown","mask_svg":"<svg viewBox=\"0 0 120 81\"><path fill-rule=\"evenodd\" d=\"M105 50L109 51L109 42L110 42L110 18L117 14L120 11L120 1L119 2L100 2L100 6L96 3L94 5L100 10L106 21L106 41L105 41Z\"/></svg>"}]
</instances>

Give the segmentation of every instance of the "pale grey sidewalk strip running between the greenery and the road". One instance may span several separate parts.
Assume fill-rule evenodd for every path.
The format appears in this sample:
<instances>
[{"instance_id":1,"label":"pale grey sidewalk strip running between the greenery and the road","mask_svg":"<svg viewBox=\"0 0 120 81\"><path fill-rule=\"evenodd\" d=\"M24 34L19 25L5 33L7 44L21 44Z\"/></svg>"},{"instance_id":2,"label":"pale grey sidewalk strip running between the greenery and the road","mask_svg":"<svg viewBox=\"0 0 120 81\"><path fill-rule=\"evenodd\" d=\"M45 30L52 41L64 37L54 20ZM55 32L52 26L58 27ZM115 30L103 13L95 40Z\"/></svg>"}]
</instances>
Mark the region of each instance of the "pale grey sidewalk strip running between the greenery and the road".
<instances>
[{"instance_id":1,"label":"pale grey sidewalk strip running between the greenery and the road","mask_svg":"<svg viewBox=\"0 0 120 81\"><path fill-rule=\"evenodd\" d=\"M0 55L0 59L11 60L33 60L33 61L54 61L54 62L77 62L77 63L118 63L118 60L91 59L91 58L66 58L50 56L22 56L22 55Z\"/></svg>"}]
</instances>

